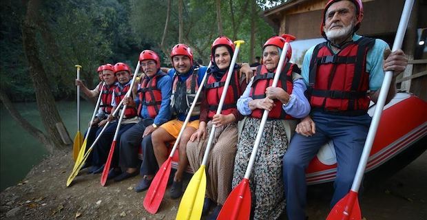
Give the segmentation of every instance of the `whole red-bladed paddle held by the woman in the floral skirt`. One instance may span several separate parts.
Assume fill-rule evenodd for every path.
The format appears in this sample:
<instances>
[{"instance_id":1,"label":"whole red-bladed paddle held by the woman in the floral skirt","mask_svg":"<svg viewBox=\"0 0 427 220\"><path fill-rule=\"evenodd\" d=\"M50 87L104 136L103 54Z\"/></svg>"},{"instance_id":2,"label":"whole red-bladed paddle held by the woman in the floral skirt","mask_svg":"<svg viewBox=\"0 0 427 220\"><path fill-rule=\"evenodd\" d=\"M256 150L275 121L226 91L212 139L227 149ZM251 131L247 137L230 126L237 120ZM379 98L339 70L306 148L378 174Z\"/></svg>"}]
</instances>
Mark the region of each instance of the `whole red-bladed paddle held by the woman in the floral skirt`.
<instances>
[{"instance_id":1,"label":"whole red-bladed paddle held by the woman in the floral skirt","mask_svg":"<svg viewBox=\"0 0 427 220\"><path fill-rule=\"evenodd\" d=\"M282 54L280 54L278 68L275 71L271 87L276 87L278 85L280 73L284 67L284 61L289 49L289 42L295 40L295 36L289 34L282 34L282 37L285 39L284 48L282 50ZM246 168L246 173L244 173L244 178L236 188L231 190L224 206L222 206L218 219L249 219L251 214L251 190L249 189L249 177L251 176L252 167L255 163L256 153L258 151L258 146L260 146L262 132L264 131L265 122L267 122L269 112L270 111L268 110L264 110L264 113L262 114L260 129L258 129L256 140L253 144L251 157Z\"/></svg>"}]
</instances>

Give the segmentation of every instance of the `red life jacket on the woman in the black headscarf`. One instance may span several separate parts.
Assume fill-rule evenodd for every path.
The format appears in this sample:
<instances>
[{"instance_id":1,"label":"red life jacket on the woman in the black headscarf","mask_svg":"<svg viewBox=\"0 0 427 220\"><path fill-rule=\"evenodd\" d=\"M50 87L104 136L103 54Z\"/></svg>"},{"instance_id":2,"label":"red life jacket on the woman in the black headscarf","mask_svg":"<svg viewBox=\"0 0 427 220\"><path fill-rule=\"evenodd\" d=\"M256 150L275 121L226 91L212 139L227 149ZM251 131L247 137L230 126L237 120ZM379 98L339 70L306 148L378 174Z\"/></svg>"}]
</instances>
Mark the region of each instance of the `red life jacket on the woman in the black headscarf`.
<instances>
[{"instance_id":1,"label":"red life jacket on the woman in the black headscarf","mask_svg":"<svg viewBox=\"0 0 427 220\"><path fill-rule=\"evenodd\" d=\"M216 114L218 105L220 104L220 98L222 96L222 90L224 90L225 80L227 79L228 72L222 76L220 81L216 81L215 76L209 73L207 78L207 103L209 104L209 113L208 117L213 118L213 115ZM227 89L227 95L225 96L224 104L222 105L222 115L230 114L233 109L237 109L236 103L240 97L240 87L238 73L234 71L231 76L229 87Z\"/></svg>"}]
</instances>

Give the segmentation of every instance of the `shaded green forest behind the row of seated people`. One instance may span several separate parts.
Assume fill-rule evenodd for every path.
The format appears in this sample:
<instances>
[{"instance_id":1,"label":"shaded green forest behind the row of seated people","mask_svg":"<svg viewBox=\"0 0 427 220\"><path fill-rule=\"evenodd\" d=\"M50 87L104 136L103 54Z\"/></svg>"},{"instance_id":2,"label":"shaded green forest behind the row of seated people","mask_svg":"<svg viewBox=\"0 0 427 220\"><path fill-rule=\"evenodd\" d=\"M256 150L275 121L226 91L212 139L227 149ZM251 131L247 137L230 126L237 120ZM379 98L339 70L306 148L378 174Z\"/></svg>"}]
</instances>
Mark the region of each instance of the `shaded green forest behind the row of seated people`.
<instances>
[{"instance_id":1,"label":"shaded green forest behind the row of seated people","mask_svg":"<svg viewBox=\"0 0 427 220\"><path fill-rule=\"evenodd\" d=\"M54 100L72 100L76 94L74 64L83 66L81 78L89 88L96 85L99 65L125 62L134 68L142 50L158 52L162 65L170 66L168 54L176 43L193 47L195 58L207 65L211 43L221 33L246 41L240 61L251 63L260 56L262 43L275 34L262 19L262 10L279 3L282 1L4 0L0 9L0 86L12 102L36 100L23 47L22 28L30 10L37 17L32 19L36 55Z\"/></svg>"}]
</instances>

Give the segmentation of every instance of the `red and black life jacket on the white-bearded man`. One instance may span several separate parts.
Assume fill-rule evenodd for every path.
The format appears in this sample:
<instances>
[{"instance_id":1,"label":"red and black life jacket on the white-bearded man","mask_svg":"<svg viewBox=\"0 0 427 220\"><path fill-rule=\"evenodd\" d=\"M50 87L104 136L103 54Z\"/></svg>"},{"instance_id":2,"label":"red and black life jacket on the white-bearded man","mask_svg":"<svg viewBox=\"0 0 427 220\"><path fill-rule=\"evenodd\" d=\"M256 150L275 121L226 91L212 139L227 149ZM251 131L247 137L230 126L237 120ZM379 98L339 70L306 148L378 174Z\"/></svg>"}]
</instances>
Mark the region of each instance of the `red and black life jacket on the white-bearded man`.
<instances>
[{"instance_id":1,"label":"red and black life jacket on the white-bearded man","mask_svg":"<svg viewBox=\"0 0 427 220\"><path fill-rule=\"evenodd\" d=\"M326 42L315 47L308 89L313 110L339 115L363 115L368 111L366 54L374 44L375 39L362 37L337 54Z\"/></svg>"}]
</instances>

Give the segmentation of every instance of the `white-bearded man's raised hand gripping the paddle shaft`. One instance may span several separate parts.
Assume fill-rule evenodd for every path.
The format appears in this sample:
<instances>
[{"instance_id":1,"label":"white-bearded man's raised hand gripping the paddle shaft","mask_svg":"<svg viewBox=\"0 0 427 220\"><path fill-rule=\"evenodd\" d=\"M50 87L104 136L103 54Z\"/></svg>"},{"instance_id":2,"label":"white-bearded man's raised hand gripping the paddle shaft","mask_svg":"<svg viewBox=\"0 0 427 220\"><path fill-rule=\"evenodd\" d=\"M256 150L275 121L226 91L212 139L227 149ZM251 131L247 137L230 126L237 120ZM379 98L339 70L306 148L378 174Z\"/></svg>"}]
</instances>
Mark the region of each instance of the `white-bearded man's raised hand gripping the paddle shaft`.
<instances>
[{"instance_id":1,"label":"white-bearded man's raised hand gripping the paddle shaft","mask_svg":"<svg viewBox=\"0 0 427 220\"><path fill-rule=\"evenodd\" d=\"M389 49L384 50L384 72L393 71L393 78L404 72L408 65L408 58L402 50L390 52Z\"/></svg>"}]
</instances>

